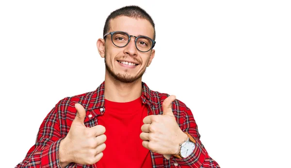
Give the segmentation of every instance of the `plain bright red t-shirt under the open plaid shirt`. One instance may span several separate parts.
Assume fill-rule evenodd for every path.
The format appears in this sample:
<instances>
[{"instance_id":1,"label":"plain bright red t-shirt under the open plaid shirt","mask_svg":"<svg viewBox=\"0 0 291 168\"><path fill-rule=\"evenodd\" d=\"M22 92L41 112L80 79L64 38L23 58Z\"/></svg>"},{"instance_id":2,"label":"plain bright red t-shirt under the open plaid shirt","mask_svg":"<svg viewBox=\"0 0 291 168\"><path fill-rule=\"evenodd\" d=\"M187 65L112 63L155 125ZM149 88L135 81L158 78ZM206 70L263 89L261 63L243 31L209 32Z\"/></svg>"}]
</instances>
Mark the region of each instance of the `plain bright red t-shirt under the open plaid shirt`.
<instances>
[{"instance_id":1,"label":"plain bright red t-shirt under the open plaid shirt","mask_svg":"<svg viewBox=\"0 0 291 168\"><path fill-rule=\"evenodd\" d=\"M106 149L97 168L152 168L150 152L142 145L140 134L147 107L141 97L117 103L105 99L106 111L98 124L106 128Z\"/></svg>"}]
</instances>

